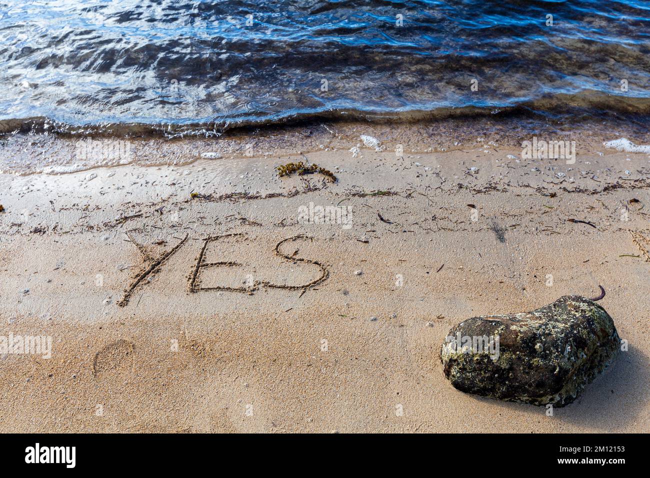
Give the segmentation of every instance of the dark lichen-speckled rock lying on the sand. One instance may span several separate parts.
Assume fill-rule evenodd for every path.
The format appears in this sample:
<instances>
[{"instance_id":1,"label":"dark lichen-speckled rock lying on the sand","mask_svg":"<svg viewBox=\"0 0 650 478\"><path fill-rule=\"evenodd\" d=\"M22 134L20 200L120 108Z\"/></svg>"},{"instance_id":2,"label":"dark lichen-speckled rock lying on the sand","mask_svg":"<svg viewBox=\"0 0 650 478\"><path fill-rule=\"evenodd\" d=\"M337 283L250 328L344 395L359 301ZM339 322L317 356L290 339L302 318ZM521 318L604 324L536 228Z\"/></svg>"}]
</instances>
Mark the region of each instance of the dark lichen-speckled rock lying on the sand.
<instances>
[{"instance_id":1,"label":"dark lichen-speckled rock lying on the sand","mask_svg":"<svg viewBox=\"0 0 650 478\"><path fill-rule=\"evenodd\" d=\"M440 359L461 392L564 406L614 360L620 341L601 306L565 295L532 312L461 322L450 330Z\"/></svg>"}]
</instances>

